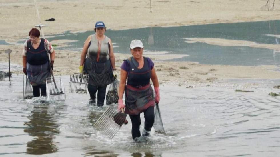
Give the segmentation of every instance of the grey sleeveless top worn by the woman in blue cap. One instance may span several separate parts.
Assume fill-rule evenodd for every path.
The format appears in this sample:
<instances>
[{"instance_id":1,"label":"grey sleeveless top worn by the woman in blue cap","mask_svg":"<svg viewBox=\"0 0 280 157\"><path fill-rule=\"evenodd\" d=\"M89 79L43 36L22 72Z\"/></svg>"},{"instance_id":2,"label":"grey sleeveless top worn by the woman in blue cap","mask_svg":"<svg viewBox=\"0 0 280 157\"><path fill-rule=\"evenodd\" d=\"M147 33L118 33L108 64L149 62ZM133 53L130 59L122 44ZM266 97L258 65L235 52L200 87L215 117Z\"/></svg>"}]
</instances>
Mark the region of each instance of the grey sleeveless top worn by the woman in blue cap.
<instances>
[{"instance_id":1,"label":"grey sleeveless top worn by the woman in blue cap","mask_svg":"<svg viewBox=\"0 0 280 157\"><path fill-rule=\"evenodd\" d=\"M98 41L95 34L91 35L91 44L87 49L87 57L95 62L106 62L109 60L109 38L105 36L102 41Z\"/></svg>"}]
</instances>

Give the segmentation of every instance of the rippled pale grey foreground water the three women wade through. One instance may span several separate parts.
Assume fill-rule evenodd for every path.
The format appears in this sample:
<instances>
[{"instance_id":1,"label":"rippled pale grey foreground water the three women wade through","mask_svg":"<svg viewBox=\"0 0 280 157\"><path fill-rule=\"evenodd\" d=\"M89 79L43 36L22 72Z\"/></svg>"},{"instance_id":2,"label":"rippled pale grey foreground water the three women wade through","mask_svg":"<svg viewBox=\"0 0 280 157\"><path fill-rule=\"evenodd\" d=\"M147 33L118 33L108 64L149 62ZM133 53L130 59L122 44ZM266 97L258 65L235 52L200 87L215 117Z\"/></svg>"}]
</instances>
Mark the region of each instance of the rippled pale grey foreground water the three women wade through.
<instances>
[{"instance_id":1,"label":"rippled pale grey foreground water the three women wade through","mask_svg":"<svg viewBox=\"0 0 280 157\"><path fill-rule=\"evenodd\" d=\"M69 76L62 76L66 91ZM1 156L277 156L280 97L269 92L280 80L240 80L161 85L167 136L152 130L147 142L131 138L131 122L111 140L93 127L104 107L89 94L66 92L63 102L22 99L23 76L0 81ZM246 87L254 92L235 92ZM143 129L143 115L142 125Z\"/></svg>"}]
</instances>

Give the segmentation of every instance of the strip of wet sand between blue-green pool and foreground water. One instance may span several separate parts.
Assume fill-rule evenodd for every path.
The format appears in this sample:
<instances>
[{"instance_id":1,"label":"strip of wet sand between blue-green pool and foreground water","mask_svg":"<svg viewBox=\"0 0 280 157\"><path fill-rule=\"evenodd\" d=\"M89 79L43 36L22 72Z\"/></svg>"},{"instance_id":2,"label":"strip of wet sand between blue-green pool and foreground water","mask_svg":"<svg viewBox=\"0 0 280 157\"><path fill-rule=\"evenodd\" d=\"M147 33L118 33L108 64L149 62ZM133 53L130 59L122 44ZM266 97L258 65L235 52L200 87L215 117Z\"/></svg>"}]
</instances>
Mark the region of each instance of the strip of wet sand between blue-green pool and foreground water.
<instances>
[{"instance_id":1,"label":"strip of wet sand between blue-green pool and foreground water","mask_svg":"<svg viewBox=\"0 0 280 157\"><path fill-rule=\"evenodd\" d=\"M5 49L10 46L2 46ZM12 64L22 64L21 45L14 46L15 52L11 54ZM1 52L1 62L7 62L8 55ZM81 52L63 50L56 52L54 63L55 75L70 75L79 72ZM20 57L19 57L20 56ZM117 74L123 59L130 57L129 54L115 53ZM199 83L213 83L226 81L232 78L243 79L279 79L280 72L277 66L229 66L229 65L208 65L196 62L166 62L164 60L171 58L181 58L187 55L162 54L162 52L144 52L143 56L150 57L155 62L159 82L161 84L172 85L191 85ZM8 65L8 64L7 64ZM13 71L13 73L22 73L22 70Z\"/></svg>"}]
</instances>

